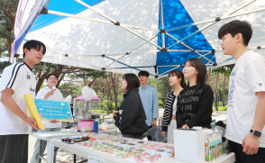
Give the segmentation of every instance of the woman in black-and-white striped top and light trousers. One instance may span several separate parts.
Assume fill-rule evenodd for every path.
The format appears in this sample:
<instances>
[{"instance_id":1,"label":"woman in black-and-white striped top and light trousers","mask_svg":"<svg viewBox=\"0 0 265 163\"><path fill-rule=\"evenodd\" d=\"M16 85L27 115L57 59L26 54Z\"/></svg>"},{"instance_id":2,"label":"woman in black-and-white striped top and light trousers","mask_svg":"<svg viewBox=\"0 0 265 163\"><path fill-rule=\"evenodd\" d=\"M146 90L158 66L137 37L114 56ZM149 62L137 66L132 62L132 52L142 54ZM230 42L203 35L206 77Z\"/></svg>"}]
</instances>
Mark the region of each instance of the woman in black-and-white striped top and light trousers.
<instances>
[{"instance_id":1,"label":"woman in black-and-white striped top and light trousers","mask_svg":"<svg viewBox=\"0 0 265 163\"><path fill-rule=\"evenodd\" d=\"M177 97L179 92L187 86L184 81L184 75L180 70L176 69L170 71L169 85L174 87L174 91L169 92L166 98L162 121L162 136L165 136L168 131L168 143L174 144L173 129L177 129Z\"/></svg>"}]
</instances>

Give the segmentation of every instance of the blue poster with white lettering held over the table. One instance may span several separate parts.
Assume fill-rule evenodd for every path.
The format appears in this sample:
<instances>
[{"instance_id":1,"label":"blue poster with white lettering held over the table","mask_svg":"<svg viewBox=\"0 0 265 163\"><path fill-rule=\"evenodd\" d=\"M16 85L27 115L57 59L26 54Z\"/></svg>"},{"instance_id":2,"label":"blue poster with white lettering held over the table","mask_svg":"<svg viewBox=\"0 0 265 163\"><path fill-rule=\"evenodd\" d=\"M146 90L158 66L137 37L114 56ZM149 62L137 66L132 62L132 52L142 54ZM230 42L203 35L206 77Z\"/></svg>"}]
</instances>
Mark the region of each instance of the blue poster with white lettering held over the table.
<instances>
[{"instance_id":1,"label":"blue poster with white lettering held over the table","mask_svg":"<svg viewBox=\"0 0 265 163\"><path fill-rule=\"evenodd\" d=\"M68 102L34 99L41 121L56 119L60 122L73 122Z\"/></svg>"}]
</instances>

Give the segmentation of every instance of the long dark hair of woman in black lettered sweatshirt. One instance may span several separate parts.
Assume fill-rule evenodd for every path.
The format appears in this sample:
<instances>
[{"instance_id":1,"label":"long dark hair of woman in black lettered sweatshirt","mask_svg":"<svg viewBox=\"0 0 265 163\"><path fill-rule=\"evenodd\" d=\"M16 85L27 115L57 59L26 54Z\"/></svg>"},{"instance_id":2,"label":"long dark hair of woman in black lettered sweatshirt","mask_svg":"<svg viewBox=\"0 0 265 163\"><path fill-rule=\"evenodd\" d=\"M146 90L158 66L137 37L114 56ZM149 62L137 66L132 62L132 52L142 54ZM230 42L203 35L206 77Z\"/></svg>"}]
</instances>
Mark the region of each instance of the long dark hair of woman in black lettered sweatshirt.
<instances>
[{"instance_id":1,"label":"long dark hair of woman in black lettered sweatshirt","mask_svg":"<svg viewBox=\"0 0 265 163\"><path fill-rule=\"evenodd\" d=\"M207 73L206 65L201 59L196 59L196 58L187 59L184 65L186 65L187 62L189 62L190 66L196 68L198 72L196 75L196 88L194 92L195 94L196 91L198 91L198 89L206 83L206 73ZM189 87L189 81L187 83L187 86L181 92L184 93L187 87Z\"/></svg>"}]
</instances>

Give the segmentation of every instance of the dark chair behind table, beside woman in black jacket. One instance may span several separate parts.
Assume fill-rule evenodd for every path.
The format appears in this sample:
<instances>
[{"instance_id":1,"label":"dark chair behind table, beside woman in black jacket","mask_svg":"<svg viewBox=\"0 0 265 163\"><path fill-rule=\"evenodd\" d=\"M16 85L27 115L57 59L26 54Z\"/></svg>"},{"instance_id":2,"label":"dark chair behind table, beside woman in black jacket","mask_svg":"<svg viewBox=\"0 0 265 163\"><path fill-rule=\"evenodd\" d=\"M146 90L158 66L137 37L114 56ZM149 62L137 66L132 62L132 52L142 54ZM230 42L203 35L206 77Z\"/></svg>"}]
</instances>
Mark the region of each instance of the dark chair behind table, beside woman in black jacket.
<instances>
[{"instance_id":1,"label":"dark chair behind table, beside woman in black jacket","mask_svg":"<svg viewBox=\"0 0 265 163\"><path fill-rule=\"evenodd\" d=\"M149 140L158 142L167 142L167 135L161 135L162 126L154 126L147 131L146 136Z\"/></svg>"}]
</instances>

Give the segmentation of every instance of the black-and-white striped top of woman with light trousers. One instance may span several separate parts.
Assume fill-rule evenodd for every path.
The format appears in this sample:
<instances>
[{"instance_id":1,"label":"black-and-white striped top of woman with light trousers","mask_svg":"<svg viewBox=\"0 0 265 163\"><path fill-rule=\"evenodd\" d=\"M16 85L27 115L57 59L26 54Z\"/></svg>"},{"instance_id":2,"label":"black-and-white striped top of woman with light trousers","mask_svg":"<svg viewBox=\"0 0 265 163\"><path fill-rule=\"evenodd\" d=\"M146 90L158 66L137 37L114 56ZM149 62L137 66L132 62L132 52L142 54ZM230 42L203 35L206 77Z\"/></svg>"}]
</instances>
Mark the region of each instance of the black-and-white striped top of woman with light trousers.
<instances>
[{"instance_id":1,"label":"black-and-white striped top of woman with light trousers","mask_svg":"<svg viewBox=\"0 0 265 163\"><path fill-rule=\"evenodd\" d=\"M177 100L176 95L174 95L173 92L174 91L169 92L166 98L165 110L164 110L163 121L162 121L162 131L168 131L168 126L169 126L169 123L171 122L173 104L175 100Z\"/></svg>"}]
</instances>

